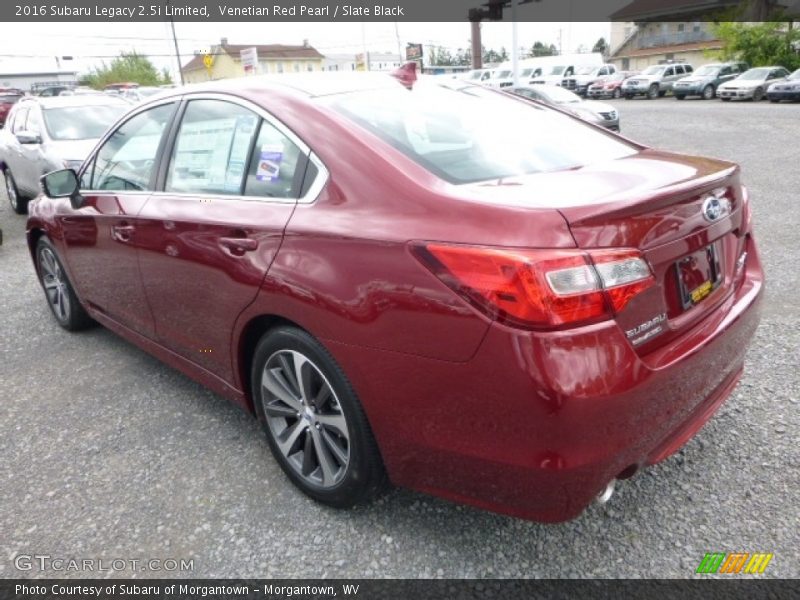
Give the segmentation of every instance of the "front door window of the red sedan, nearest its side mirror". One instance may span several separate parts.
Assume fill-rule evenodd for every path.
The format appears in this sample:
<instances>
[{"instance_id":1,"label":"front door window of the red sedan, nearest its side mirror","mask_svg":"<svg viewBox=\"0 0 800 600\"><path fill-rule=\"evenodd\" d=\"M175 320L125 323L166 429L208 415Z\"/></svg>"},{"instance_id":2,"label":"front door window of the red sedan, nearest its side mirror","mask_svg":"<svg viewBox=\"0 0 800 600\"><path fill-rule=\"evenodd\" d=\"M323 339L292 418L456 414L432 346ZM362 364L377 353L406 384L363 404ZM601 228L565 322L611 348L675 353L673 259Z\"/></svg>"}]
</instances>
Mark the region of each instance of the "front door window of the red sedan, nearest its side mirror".
<instances>
[{"instance_id":1,"label":"front door window of the red sedan, nearest its side mirror","mask_svg":"<svg viewBox=\"0 0 800 600\"><path fill-rule=\"evenodd\" d=\"M151 108L123 123L105 141L93 164L93 190L152 190L158 149L176 103Z\"/></svg>"}]
</instances>

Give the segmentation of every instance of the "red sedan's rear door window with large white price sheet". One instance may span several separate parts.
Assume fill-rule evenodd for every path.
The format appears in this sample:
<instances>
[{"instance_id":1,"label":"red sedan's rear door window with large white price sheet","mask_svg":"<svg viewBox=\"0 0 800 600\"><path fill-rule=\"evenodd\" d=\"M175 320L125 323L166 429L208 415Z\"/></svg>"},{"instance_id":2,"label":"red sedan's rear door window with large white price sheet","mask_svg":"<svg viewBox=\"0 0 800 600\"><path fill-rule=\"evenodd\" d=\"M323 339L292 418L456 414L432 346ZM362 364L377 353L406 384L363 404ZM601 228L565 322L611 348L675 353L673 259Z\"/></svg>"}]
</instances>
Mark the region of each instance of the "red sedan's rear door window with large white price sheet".
<instances>
[{"instance_id":1,"label":"red sedan's rear door window with large white price sheet","mask_svg":"<svg viewBox=\"0 0 800 600\"><path fill-rule=\"evenodd\" d=\"M192 100L186 107L164 191L242 194L260 117L222 100Z\"/></svg>"}]
</instances>

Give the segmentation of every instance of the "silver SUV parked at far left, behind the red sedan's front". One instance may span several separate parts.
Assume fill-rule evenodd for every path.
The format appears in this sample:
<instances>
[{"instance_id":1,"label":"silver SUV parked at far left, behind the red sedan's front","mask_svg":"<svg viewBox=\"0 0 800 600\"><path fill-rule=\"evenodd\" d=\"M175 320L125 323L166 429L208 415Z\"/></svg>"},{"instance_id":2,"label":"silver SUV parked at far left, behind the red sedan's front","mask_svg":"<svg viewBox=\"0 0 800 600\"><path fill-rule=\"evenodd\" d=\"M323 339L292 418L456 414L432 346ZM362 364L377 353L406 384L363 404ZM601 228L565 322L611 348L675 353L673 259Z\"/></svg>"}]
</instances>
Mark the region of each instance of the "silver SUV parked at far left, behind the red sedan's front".
<instances>
[{"instance_id":1,"label":"silver SUV parked at far left, behind the red sedan's front","mask_svg":"<svg viewBox=\"0 0 800 600\"><path fill-rule=\"evenodd\" d=\"M26 97L0 130L0 171L11 208L25 214L39 193L39 178L58 169L78 169L106 129L130 104L98 96Z\"/></svg>"}]
</instances>

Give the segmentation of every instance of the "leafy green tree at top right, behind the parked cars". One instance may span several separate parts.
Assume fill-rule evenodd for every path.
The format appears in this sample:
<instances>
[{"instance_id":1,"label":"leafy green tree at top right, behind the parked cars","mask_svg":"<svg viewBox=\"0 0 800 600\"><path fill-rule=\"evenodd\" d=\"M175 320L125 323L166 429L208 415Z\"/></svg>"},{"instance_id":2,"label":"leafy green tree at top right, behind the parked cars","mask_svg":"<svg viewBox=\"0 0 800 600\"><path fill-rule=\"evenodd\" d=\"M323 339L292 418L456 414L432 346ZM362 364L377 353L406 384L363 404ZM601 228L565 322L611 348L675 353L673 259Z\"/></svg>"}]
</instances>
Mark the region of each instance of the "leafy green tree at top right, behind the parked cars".
<instances>
[{"instance_id":1,"label":"leafy green tree at top right, behind the parked cars","mask_svg":"<svg viewBox=\"0 0 800 600\"><path fill-rule=\"evenodd\" d=\"M722 42L716 56L723 60L742 60L752 67L781 65L800 68L800 30L791 21L764 23L718 23L714 33Z\"/></svg>"}]
</instances>

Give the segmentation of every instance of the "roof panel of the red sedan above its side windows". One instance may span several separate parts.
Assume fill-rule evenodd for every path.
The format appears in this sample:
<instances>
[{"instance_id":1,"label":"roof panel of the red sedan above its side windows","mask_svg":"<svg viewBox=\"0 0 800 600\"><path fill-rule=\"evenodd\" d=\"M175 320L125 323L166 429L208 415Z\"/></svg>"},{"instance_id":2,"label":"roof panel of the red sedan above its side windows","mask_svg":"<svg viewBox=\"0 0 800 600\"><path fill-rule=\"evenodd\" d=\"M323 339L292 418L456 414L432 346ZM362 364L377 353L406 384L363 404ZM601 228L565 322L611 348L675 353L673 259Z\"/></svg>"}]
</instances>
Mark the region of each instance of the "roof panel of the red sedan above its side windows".
<instances>
[{"instance_id":1,"label":"roof panel of the red sedan above its side windows","mask_svg":"<svg viewBox=\"0 0 800 600\"><path fill-rule=\"evenodd\" d=\"M223 79L210 83L192 84L170 90L176 94L194 92L258 93L270 89L294 91L305 96L330 96L374 89L396 88L400 82L389 73L287 73Z\"/></svg>"}]
</instances>

